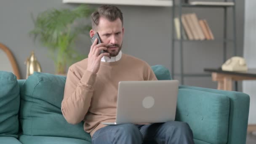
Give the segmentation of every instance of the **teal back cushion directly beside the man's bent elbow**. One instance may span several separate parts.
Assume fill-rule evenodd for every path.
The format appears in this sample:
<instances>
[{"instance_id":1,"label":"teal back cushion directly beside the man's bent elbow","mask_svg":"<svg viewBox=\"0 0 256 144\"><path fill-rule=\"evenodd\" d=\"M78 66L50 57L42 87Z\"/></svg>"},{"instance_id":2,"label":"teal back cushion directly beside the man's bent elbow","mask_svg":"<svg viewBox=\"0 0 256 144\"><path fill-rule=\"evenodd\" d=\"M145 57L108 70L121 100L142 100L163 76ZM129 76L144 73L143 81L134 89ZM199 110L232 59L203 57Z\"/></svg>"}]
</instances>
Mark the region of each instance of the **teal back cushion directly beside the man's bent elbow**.
<instances>
[{"instance_id":1,"label":"teal back cushion directly beside the man's bent elbow","mask_svg":"<svg viewBox=\"0 0 256 144\"><path fill-rule=\"evenodd\" d=\"M61 113L66 77L35 72L21 87L20 121L24 135L91 141L83 123L67 123Z\"/></svg>"}]
</instances>

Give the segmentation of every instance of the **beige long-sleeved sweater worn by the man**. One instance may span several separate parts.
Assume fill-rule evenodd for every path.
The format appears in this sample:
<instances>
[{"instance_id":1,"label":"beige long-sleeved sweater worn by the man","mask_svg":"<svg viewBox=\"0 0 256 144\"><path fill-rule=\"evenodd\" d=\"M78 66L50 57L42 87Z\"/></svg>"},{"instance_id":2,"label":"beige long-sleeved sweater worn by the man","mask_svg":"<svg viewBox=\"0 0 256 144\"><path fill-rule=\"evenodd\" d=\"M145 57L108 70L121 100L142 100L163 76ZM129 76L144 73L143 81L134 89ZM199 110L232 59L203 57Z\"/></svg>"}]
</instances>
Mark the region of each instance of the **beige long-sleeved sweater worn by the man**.
<instances>
[{"instance_id":1,"label":"beige long-sleeved sweater worn by the man","mask_svg":"<svg viewBox=\"0 0 256 144\"><path fill-rule=\"evenodd\" d=\"M102 62L97 74L87 71L87 61L69 67L61 111L68 123L84 120L84 130L93 133L115 122L117 89L120 81L157 80L149 64L133 56L122 54L115 62Z\"/></svg>"}]
</instances>

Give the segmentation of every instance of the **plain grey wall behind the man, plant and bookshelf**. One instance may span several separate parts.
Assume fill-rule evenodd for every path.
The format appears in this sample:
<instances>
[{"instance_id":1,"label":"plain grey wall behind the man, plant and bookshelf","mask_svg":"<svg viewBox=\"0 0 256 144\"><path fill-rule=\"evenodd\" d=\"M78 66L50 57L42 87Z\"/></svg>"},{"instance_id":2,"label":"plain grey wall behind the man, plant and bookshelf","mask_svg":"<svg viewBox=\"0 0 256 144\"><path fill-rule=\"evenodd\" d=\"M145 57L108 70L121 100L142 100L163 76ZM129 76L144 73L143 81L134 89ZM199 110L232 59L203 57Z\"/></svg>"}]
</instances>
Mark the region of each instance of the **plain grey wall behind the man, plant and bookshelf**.
<instances>
[{"instance_id":1,"label":"plain grey wall behind the man, plant and bookshelf","mask_svg":"<svg viewBox=\"0 0 256 144\"><path fill-rule=\"evenodd\" d=\"M47 50L33 43L28 36L33 28L30 13L48 8L75 8L75 4L63 4L61 0L5 0L0 2L0 42L7 45L18 61L22 78L25 78L24 61L35 50L43 72L54 73L54 64L47 57ZM92 5L96 7L98 5ZM123 52L147 61L150 65L163 64L171 70L171 11L169 7L119 6L124 15L125 39ZM203 73L204 67L220 67L222 59L223 9L185 8L185 13L196 12L200 19L207 19L216 39L220 41L185 42L184 71ZM237 48L243 54L244 1L237 0ZM228 33L232 37L232 15L228 11ZM88 37L80 37L77 48L88 53L91 42ZM178 45L177 45L178 46ZM176 72L179 72L179 49L176 48ZM232 56L232 43L229 43L228 56ZM179 77L175 77L179 79ZM216 88L211 77L188 77L186 85Z\"/></svg>"}]
</instances>

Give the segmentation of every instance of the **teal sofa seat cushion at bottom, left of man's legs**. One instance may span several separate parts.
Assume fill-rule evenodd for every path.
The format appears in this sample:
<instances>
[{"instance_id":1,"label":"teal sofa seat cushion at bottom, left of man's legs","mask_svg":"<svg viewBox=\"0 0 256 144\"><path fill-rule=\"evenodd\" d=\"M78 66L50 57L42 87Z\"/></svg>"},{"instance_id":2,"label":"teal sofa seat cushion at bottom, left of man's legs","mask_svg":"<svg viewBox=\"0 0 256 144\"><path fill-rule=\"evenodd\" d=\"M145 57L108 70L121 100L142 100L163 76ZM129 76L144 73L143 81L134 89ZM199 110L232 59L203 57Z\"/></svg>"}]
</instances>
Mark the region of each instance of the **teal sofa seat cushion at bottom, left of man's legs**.
<instances>
[{"instance_id":1,"label":"teal sofa seat cushion at bottom, left of man's legs","mask_svg":"<svg viewBox=\"0 0 256 144\"><path fill-rule=\"evenodd\" d=\"M72 139L53 136L26 136L21 135L19 140L23 144L91 144L82 139Z\"/></svg>"}]
</instances>

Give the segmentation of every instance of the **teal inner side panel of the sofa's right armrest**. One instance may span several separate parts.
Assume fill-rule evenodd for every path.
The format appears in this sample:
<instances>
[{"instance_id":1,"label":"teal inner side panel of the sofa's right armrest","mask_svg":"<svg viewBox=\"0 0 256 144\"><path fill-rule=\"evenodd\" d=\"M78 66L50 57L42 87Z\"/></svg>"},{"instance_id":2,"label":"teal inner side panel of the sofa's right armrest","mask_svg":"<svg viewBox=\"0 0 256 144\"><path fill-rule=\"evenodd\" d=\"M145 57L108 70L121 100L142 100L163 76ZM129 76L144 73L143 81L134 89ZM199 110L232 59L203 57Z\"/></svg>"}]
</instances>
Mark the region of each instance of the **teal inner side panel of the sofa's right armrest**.
<instances>
[{"instance_id":1,"label":"teal inner side panel of the sofa's right armrest","mask_svg":"<svg viewBox=\"0 0 256 144\"><path fill-rule=\"evenodd\" d=\"M176 120L187 122L200 144L227 144L229 98L223 94L179 88Z\"/></svg>"}]
</instances>

